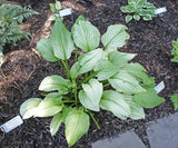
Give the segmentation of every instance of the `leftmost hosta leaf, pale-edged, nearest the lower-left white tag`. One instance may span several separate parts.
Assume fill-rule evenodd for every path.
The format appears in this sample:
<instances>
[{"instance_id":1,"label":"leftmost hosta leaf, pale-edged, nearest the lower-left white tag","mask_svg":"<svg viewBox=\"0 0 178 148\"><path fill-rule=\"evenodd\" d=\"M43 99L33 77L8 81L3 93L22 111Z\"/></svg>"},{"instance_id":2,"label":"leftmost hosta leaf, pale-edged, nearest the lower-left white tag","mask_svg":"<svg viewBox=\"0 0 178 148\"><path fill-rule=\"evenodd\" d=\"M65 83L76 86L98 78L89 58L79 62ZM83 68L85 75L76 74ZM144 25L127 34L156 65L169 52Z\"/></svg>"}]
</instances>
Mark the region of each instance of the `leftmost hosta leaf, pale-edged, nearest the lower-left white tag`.
<instances>
[{"instance_id":1,"label":"leftmost hosta leaf, pale-edged, nearest the lower-left white tag","mask_svg":"<svg viewBox=\"0 0 178 148\"><path fill-rule=\"evenodd\" d=\"M31 98L31 99L26 100L20 106L20 115L23 117L23 119L28 119L34 115L41 100L42 99L39 99L39 98Z\"/></svg>"}]
</instances>

